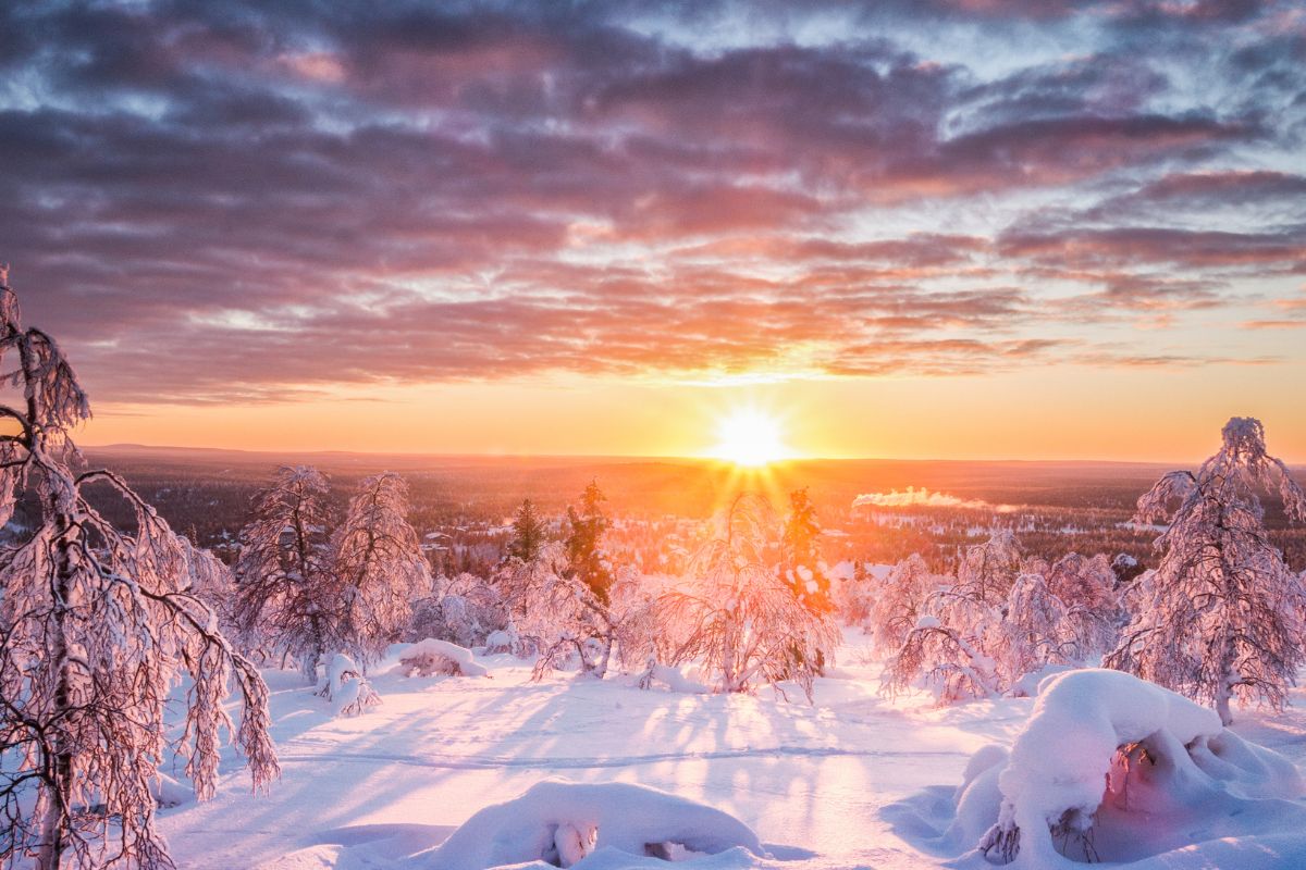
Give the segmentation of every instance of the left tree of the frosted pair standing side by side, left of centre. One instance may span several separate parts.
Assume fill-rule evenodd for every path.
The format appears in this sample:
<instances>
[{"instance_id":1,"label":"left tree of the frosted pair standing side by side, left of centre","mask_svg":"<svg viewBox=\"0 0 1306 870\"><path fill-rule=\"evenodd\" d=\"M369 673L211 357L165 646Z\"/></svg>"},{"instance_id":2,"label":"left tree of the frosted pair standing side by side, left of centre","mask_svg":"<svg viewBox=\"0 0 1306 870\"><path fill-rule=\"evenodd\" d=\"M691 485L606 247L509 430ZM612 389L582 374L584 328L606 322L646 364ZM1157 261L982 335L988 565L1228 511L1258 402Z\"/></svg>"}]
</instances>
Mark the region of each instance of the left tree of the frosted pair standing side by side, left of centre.
<instances>
[{"instance_id":1,"label":"left tree of the frosted pair standing side by side, left of centre","mask_svg":"<svg viewBox=\"0 0 1306 870\"><path fill-rule=\"evenodd\" d=\"M316 468L279 468L272 485L255 496L235 563L235 623L298 656L312 685L340 618L326 492L326 477Z\"/></svg>"}]
</instances>

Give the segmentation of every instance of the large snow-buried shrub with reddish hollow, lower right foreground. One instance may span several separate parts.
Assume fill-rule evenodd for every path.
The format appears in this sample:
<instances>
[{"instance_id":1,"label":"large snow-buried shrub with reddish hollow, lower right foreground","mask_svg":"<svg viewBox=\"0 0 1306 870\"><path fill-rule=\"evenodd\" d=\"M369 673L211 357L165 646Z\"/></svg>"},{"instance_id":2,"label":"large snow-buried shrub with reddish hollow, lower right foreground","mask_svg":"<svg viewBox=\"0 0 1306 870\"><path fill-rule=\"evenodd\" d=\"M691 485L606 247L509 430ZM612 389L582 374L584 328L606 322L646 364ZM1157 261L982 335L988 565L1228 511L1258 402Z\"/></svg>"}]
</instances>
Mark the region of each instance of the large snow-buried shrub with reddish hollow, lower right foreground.
<instances>
[{"instance_id":1,"label":"large snow-buried shrub with reddish hollow, lower right foreground","mask_svg":"<svg viewBox=\"0 0 1306 870\"><path fill-rule=\"evenodd\" d=\"M1251 818L1256 801L1303 792L1292 762L1225 730L1213 711L1105 669L1050 677L1010 757L989 753L985 764L1002 802L978 848L1020 867L1155 854L1183 845L1202 819ZM970 779L977 788L980 775ZM978 787L989 800L991 783ZM959 823L973 831L989 800L972 796ZM1262 811L1279 810L1271 801Z\"/></svg>"}]
</instances>

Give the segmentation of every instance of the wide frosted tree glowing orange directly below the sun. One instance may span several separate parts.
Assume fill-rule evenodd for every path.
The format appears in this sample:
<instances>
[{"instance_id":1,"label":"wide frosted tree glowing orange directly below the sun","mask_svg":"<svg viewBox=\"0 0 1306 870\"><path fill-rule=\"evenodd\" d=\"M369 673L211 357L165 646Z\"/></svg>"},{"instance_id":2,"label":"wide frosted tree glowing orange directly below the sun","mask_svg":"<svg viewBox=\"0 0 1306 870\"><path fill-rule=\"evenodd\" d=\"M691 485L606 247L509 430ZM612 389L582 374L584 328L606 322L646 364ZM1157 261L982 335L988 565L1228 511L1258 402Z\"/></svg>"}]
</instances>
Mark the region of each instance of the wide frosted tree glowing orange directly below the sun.
<instances>
[{"instance_id":1,"label":"wide frosted tree glowing orange directly below the sun","mask_svg":"<svg viewBox=\"0 0 1306 870\"><path fill-rule=\"evenodd\" d=\"M683 588L666 592L661 613L683 633L678 665L701 661L720 691L794 680L811 698L820 663L838 640L829 614L806 608L781 577L776 517L765 497L746 492L717 519L695 553Z\"/></svg>"}]
</instances>

